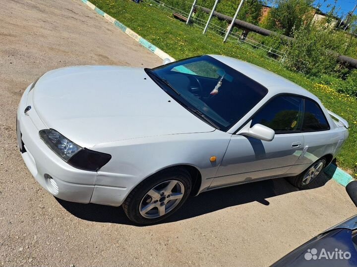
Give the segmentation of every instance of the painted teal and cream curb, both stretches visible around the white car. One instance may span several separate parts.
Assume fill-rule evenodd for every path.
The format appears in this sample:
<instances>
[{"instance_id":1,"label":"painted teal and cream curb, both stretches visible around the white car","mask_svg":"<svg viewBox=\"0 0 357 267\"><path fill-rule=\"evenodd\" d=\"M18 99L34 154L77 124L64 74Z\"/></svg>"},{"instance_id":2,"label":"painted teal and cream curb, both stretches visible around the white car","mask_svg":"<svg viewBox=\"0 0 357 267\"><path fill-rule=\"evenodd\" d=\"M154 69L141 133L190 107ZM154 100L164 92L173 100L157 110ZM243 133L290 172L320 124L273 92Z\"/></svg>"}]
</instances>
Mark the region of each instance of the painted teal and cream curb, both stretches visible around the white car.
<instances>
[{"instance_id":1,"label":"painted teal and cream curb, both stretches visible around the white car","mask_svg":"<svg viewBox=\"0 0 357 267\"><path fill-rule=\"evenodd\" d=\"M108 15L101 9L99 9L97 6L92 4L88 0L81 0L83 3L88 5L91 9L96 11L99 15L104 17L105 19L109 20L111 23L113 23L117 28L119 28L122 32L126 33L128 36L130 36L132 39L134 39L136 42L138 42L140 45L144 46L157 56L159 56L161 59L165 58L170 58L171 61L175 61L173 57L171 57L169 54L165 53L163 50L160 48L156 47L155 45L151 44L149 41L145 40L142 38L140 35L126 27L124 24L113 18L112 16ZM341 170L335 165L330 164L324 172L332 177L335 181L337 181L339 184L346 186L350 181L353 180L352 176L346 173L345 171Z\"/></svg>"}]
</instances>

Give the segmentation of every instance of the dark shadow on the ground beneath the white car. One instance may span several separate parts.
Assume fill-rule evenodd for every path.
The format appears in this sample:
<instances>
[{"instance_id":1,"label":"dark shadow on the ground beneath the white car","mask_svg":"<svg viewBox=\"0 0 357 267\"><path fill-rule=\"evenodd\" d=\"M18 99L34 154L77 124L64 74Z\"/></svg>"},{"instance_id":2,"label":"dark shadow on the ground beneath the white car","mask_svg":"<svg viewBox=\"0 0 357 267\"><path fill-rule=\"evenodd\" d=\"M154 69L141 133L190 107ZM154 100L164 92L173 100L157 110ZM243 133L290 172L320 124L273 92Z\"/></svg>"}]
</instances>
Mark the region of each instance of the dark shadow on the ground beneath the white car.
<instances>
[{"instance_id":1,"label":"dark shadow on the ground beneath the white car","mask_svg":"<svg viewBox=\"0 0 357 267\"><path fill-rule=\"evenodd\" d=\"M268 198L323 186L332 176L333 167L329 169L329 172L321 173L318 179L304 189L294 187L285 178L275 178L204 192L196 197L188 198L186 203L175 214L156 224L177 222L254 201L268 206L270 204L267 200ZM69 213L82 220L145 226L129 221L121 207L80 204L61 199L57 199L57 201Z\"/></svg>"}]
</instances>

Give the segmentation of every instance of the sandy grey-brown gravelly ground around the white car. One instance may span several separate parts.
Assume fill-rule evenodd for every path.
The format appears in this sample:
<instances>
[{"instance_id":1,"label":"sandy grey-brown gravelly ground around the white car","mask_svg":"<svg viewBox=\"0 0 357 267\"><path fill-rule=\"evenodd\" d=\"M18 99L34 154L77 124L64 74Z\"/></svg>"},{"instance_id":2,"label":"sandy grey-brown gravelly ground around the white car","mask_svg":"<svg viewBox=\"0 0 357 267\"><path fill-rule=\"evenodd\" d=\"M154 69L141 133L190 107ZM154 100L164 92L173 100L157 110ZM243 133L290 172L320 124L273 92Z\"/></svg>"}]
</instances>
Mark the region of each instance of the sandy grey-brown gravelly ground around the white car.
<instances>
[{"instance_id":1,"label":"sandy grey-brown gravelly ground around the white car","mask_svg":"<svg viewBox=\"0 0 357 267\"><path fill-rule=\"evenodd\" d=\"M276 179L204 193L169 221L143 227L120 207L55 199L16 147L23 90L63 66L153 67L161 60L80 0L0 4L2 266L268 266L356 213L345 189L327 177L303 191Z\"/></svg>"}]
</instances>

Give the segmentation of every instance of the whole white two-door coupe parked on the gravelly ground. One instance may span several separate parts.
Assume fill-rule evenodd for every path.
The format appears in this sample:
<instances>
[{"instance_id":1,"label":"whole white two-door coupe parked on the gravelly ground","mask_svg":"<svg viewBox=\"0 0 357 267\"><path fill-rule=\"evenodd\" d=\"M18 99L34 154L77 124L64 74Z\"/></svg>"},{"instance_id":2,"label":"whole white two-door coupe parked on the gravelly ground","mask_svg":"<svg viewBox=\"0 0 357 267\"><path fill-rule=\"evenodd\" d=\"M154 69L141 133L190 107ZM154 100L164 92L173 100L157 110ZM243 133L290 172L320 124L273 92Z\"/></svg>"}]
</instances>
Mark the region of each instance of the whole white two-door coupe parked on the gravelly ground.
<instances>
[{"instance_id":1,"label":"whole white two-door coupe parked on the gravelly ground","mask_svg":"<svg viewBox=\"0 0 357 267\"><path fill-rule=\"evenodd\" d=\"M22 158L47 191L122 205L135 223L158 222L189 195L224 186L288 177L305 187L336 157L347 128L307 90L218 55L154 69L53 70L25 90L17 111Z\"/></svg>"}]
</instances>

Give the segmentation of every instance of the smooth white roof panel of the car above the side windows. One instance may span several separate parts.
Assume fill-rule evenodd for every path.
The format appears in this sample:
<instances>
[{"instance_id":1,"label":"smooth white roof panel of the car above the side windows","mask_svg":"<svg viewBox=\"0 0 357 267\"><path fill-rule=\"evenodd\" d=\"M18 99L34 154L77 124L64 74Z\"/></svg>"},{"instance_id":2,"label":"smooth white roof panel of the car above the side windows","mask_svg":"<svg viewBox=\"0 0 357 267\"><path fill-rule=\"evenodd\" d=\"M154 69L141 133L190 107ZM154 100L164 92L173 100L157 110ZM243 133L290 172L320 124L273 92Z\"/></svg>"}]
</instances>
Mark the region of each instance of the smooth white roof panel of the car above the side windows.
<instances>
[{"instance_id":1,"label":"smooth white roof panel of the car above the side windows","mask_svg":"<svg viewBox=\"0 0 357 267\"><path fill-rule=\"evenodd\" d=\"M280 93L293 93L301 96L309 97L320 103L319 99L306 89L298 86L297 84L268 71L264 68L258 67L254 64L241 61L237 58L222 56L222 55L209 55L222 63L230 66L231 68L239 71L245 76L253 79L262 86L269 90L270 96Z\"/></svg>"}]
</instances>

